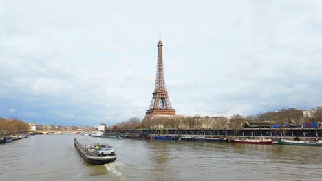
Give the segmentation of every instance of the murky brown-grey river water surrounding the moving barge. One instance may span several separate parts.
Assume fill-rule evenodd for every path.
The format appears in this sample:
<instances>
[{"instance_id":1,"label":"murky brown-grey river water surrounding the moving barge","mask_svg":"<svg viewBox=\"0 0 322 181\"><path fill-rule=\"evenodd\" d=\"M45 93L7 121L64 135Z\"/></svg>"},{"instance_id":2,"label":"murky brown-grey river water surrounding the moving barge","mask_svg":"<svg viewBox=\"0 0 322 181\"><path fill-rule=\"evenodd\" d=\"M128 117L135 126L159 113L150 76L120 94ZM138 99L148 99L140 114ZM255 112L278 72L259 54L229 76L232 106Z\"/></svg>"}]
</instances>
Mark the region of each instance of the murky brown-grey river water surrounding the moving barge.
<instances>
[{"instance_id":1,"label":"murky brown-grey river water surrounding the moving barge","mask_svg":"<svg viewBox=\"0 0 322 181\"><path fill-rule=\"evenodd\" d=\"M118 158L89 165L74 148L109 143ZM0 145L0 180L322 180L322 147L36 135Z\"/></svg>"}]
</instances>

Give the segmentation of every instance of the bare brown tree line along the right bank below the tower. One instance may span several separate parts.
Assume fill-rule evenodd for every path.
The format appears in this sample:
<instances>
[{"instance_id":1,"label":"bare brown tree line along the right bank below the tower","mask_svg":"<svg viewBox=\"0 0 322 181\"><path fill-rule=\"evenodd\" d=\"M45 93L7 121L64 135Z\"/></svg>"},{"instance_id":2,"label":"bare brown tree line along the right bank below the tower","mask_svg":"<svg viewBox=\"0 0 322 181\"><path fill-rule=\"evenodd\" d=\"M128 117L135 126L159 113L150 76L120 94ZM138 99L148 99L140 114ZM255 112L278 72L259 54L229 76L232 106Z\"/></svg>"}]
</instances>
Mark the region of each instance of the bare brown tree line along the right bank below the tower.
<instances>
[{"instance_id":1,"label":"bare brown tree line along the right bank below the tower","mask_svg":"<svg viewBox=\"0 0 322 181\"><path fill-rule=\"evenodd\" d=\"M287 114L277 114L276 117L265 117L261 114L242 116L235 114L231 117L183 117L183 116L156 116L152 119L140 120L138 117L131 117L129 120L110 126L108 130L129 130L129 129L193 129L193 128L248 128L251 124L267 123L282 125L283 123L317 123L322 121L322 112L312 111L312 117L305 117L299 112L288 112Z\"/></svg>"}]
</instances>

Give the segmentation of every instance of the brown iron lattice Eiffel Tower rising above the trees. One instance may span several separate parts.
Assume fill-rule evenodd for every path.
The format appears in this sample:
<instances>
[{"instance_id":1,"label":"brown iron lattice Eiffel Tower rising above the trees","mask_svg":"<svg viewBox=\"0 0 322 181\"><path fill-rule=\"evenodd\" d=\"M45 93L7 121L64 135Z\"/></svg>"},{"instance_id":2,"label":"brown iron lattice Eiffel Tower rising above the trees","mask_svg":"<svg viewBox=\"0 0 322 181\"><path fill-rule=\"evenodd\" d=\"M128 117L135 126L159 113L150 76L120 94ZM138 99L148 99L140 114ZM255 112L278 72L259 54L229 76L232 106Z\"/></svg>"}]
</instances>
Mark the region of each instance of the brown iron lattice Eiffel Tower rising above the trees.
<instances>
[{"instance_id":1,"label":"brown iron lattice Eiffel Tower rising above the trees","mask_svg":"<svg viewBox=\"0 0 322 181\"><path fill-rule=\"evenodd\" d=\"M171 106L164 81L162 46L163 43L160 36L155 87L149 110L147 110L144 119L151 119L154 115L175 115L175 110Z\"/></svg>"}]
</instances>

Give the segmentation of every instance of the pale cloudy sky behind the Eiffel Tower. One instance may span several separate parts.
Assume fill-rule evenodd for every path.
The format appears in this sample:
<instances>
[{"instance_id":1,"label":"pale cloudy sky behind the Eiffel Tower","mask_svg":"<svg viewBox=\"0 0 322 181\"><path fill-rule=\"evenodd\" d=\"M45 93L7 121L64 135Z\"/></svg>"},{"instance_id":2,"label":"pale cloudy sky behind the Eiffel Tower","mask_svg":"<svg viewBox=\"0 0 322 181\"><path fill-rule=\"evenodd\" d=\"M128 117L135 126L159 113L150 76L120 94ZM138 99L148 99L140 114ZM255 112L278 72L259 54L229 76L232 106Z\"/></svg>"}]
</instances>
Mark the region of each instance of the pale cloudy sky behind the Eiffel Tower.
<instances>
[{"instance_id":1,"label":"pale cloudy sky behind the Eiffel Tower","mask_svg":"<svg viewBox=\"0 0 322 181\"><path fill-rule=\"evenodd\" d=\"M143 119L157 43L179 115L322 106L322 1L0 1L0 117Z\"/></svg>"}]
</instances>

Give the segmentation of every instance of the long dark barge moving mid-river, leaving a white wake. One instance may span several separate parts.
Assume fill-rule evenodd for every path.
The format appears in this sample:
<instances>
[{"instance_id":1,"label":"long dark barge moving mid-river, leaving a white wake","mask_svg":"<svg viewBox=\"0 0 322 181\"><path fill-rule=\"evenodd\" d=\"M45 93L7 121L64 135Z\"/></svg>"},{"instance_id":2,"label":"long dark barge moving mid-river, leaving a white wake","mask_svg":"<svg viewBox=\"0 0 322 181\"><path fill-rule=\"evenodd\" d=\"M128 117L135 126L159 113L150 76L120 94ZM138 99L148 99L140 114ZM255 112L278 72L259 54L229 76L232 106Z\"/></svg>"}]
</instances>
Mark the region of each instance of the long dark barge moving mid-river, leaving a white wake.
<instances>
[{"instance_id":1,"label":"long dark barge moving mid-river, leaving a white wake","mask_svg":"<svg viewBox=\"0 0 322 181\"><path fill-rule=\"evenodd\" d=\"M106 143L93 143L82 145L76 138L74 139L74 147L81 155L83 160L88 163L102 165L114 162L116 153L113 147Z\"/></svg>"}]
</instances>

